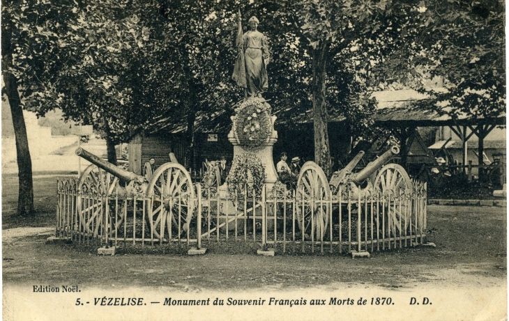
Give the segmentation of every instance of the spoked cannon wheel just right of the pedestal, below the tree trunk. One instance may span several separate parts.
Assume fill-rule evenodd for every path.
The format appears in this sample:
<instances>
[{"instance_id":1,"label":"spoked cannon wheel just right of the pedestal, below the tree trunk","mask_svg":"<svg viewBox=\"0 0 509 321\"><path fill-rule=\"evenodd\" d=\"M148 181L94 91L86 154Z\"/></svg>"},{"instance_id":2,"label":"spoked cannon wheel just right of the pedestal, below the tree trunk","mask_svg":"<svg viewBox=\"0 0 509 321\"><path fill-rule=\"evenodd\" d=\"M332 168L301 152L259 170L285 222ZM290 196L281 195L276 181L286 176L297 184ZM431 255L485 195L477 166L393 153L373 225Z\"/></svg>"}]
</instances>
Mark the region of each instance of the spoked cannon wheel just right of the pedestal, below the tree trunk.
<instances>
[{"instance_id":1,"label":"spoked cannon wheel just right of the pedestal, below the tree trunk","mask_svg":"<svg viewBox=\"0 0 509 321\"><path fill-rule=\"evenodd\" d=\"M310 237L308 233L312 233L314 240L321 240L331 212L328 203L331 200L331 188L320 166L314 162L306 162L302 166L296 193L298 227L305 237Z\"/></svg>"}]
</instances>

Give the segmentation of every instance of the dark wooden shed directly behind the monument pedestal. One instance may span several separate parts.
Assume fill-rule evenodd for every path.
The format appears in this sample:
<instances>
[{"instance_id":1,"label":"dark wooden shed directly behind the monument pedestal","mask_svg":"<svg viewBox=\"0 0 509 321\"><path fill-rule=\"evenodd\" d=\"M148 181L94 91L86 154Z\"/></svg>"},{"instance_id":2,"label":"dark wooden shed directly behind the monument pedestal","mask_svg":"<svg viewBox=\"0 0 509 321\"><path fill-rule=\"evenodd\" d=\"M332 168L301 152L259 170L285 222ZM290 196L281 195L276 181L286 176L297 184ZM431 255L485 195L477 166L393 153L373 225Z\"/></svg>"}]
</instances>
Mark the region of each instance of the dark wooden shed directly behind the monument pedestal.
<instances>
[{"instance_id":1,"label":"dark wooden shed directly behind the monument pedestal","mask_svg":"<svg viewBox=\"0 0 509 321\"><path fill-rule=\"evenodd\" d=\"M231 126L231 125L230 125ZM344 146L348 146L349 135L342 130L344 123L331 123L329 137L331 139L331 155L338 157ZM204 130L195 133L192 157L188 154L190 145L184 128L155 128L149 127L137 132L130 139L128 146L129 170L141 173L145 162L150 157L155 158L155 164L160 166L169 162L169 153L173 152L180 164L186 169L197 171L202 169L202 163L207 159L218 160L224 156L231 164L234 157L234 147L228 141L230 128L218 130ZM289 159L300 157L304 161L314 159L313 124L301 123L296 128L287 128L276 123L278 141L273 146L273 160L277 164L280 153L287 152ZM191 160L189 159L191 158Z\"/></svg>"}]
</instances>

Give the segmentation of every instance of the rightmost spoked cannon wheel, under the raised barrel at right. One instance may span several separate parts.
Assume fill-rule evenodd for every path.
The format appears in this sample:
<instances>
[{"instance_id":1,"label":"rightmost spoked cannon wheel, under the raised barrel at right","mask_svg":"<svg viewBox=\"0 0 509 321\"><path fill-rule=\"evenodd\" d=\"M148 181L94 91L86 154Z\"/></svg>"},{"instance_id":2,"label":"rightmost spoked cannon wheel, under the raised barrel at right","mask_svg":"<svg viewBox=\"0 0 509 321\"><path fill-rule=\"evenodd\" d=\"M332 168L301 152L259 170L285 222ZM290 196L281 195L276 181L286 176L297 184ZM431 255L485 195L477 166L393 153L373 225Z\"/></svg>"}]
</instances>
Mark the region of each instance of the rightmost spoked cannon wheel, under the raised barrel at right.
<instances>
[{"instance_id":1,"label":"rightmost spoked cannon wheel, under the raised barrel at right","mask_svg":"<svg viewBox=\"0 0 509 321\"><path fill-rule=\"evenodd\" d=\"M379 197L386 198L385 212L391 220L393 231L399 230L401 219L402 229L407 228L407 203L397 201L402 196L409 194L412 190L412 181L407 171L398 164L387 164L379 171L374 180L374 189L379 191ZM402 231L400 231L402 233Z\"/></svg>"}]
</instances>

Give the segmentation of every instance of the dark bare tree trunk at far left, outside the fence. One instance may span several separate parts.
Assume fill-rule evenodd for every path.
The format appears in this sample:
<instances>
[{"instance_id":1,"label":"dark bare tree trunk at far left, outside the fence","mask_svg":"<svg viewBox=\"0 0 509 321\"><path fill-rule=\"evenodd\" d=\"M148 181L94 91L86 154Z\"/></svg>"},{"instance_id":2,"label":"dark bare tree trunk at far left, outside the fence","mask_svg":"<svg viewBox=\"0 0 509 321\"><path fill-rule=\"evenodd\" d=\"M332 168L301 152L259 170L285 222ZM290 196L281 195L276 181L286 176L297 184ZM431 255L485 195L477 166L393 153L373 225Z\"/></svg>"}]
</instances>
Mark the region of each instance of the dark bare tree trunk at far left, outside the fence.
<instances>
[{"instance_id":1,"label":"dark bare tree trunk at far left, outside the fence","mask_svg":"<svg viewBox=\"0 0 509 321\"><path fill-rule=\"evenodd\" d=\"M6 84L6 95L10 104L10 112L13 115L14 134L16 137L17 177L20 182L17 198L17 214L29 215L33 213L32 161L30 158L29 140L26 136L20 93L17 91L17 79L14 75L8 72L4 73L3 81Z\"/></svg>"}]
</instances>

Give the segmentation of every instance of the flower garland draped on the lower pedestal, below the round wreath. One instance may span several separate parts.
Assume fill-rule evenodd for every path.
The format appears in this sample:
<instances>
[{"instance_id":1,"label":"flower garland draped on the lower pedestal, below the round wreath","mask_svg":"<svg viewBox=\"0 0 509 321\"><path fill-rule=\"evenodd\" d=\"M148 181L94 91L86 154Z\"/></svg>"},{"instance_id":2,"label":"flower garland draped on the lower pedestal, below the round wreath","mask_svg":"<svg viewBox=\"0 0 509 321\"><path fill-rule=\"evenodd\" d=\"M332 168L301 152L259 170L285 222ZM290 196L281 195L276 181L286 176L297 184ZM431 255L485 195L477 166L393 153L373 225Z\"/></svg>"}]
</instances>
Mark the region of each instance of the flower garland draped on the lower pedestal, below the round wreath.
<instances>
[{"instance_id":1,"label":"flower garland draped on the lower pedestal, below the round wreath","mask_svg":"<svg viewBox=\"0 0 509 321\"><path fill-rule=\"evenodd\" d=\"M249 175L250 174L250 175ZM227 177L228 193L231 198L244 194L248 187L248 194L254 189L257 196L261 195L261 188L265 182L265 168L261 160L253 154L241 154L234 157Z\"/></svg>"}]
</instances>

